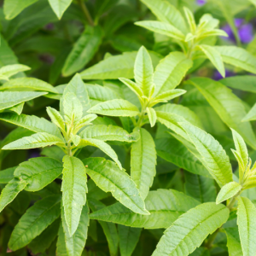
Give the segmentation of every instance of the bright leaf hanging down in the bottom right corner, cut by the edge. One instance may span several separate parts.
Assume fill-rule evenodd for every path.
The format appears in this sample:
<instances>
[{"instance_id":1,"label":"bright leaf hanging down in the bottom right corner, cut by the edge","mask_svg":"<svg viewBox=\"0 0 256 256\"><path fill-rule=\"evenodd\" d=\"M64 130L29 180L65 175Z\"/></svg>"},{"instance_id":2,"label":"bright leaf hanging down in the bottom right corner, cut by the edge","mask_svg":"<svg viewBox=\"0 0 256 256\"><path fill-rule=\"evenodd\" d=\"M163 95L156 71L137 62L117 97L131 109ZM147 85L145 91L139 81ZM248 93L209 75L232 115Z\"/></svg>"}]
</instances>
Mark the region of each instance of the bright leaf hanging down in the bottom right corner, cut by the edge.
<instances>
[{"instance_id":1,"label":"bright leaf hanging down in the bottom right corner, cut by the edge","mask_svg":"<svg viewBox=\"0 0 256 256\"><path fill-rule=\"evenodd\" d=\"M253 255L256 251L256 208L246 197L238 197L237 224L244 256Z\"/></svg>"}]
</instances>

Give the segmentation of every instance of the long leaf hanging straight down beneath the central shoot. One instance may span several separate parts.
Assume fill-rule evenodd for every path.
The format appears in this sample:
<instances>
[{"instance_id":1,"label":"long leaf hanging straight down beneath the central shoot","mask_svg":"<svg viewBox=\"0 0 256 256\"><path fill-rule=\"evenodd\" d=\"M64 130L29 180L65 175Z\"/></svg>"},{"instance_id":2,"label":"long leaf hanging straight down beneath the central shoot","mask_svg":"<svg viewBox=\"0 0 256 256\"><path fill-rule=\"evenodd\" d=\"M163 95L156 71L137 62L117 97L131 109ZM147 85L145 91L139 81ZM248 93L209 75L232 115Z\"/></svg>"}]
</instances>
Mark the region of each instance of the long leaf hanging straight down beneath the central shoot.
<instances>
[{"instance_id":1,"label":"long leaf hanging straight down beneath the central shoot","mask_svg":"<svg viewBox=\"0 0 256 256\"><path fill-rule=\"evenodd\" d=\"M143 128L137 130L140 139L131 144L131 178L145 199L155 176L156 151L150 133Z\"/></svg>"}]
</instances>

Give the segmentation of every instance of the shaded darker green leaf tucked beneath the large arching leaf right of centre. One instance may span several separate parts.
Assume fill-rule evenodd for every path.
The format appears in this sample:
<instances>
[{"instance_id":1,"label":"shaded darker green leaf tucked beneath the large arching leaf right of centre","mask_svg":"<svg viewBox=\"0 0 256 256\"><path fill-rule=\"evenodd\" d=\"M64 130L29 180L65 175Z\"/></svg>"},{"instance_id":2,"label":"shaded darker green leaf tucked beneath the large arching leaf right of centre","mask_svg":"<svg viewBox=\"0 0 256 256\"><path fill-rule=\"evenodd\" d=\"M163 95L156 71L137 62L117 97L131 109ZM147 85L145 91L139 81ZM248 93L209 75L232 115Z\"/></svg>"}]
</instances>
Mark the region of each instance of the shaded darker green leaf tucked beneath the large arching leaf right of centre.
<instances>
[{"instance_id":1,"label":"shaded darker green leaf tucked beneath the large arching leaf right of centre","mask_svg":"<svg viewBox=\"0 0 256 256\"><path fill-rule=\"evenodd\" d=\"M195 155L174 137L163 137L155 140L157 154L172 164L204 177L212 177L206 167Z\"/></svg>"}]
</instances>

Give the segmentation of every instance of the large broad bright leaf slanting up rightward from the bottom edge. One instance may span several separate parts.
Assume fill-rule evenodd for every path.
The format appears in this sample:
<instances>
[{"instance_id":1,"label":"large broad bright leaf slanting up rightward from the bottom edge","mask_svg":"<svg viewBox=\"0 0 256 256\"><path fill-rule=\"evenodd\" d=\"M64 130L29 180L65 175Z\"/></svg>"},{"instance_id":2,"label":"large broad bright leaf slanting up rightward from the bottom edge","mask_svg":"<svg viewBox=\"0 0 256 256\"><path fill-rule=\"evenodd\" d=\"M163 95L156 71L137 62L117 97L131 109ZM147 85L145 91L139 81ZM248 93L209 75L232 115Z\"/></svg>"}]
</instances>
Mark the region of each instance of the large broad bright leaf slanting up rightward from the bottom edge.
<instances>
[{"instance_id":1,"label":"large broad bright leaf slanting up rightward from the bottom edge","mask_svg":"<svg viewBox=\"0 0 256 256\"><path fill-rule=\"evenodd\" d=\"M181 256L187 256L193 253L209 234L228 220L229 216L230 211L227 207L217 206L212 202L189 210L165 231L152 255L174 256L179 253Z\"/></svg>"}]
</instances>

